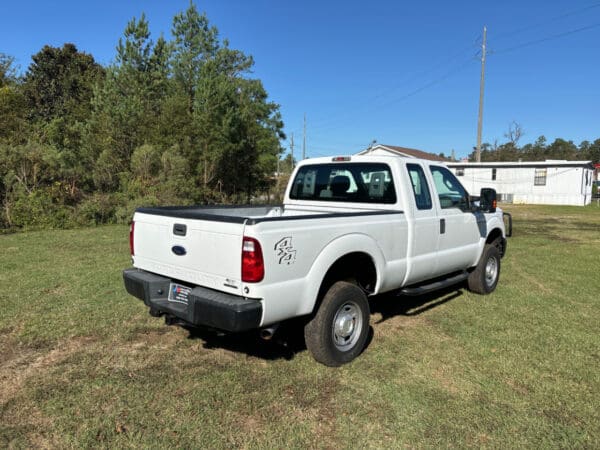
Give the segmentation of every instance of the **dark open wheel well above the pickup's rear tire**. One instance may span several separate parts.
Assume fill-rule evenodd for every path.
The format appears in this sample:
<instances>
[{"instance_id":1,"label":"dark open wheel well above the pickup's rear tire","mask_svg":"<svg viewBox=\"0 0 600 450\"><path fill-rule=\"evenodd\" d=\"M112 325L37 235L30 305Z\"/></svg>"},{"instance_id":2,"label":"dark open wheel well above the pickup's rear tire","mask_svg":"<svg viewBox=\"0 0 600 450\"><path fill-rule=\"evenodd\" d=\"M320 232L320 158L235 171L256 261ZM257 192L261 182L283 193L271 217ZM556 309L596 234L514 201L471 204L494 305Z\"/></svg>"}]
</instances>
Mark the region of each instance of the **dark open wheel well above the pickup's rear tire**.
<instances>
[{"instance_id":1,"label":"dark open wheel well above the pickup's rear tire","mask_svg":"<svg viewBox=\"0 0 600 450\"><path fill-rule=\"evenodd\" d=\"M317 304L333 283L350 280L367 294L375 291L377 270L373 259L367 253L348 253L331 265L321 282Z\"/></svg>"}]
</instances>

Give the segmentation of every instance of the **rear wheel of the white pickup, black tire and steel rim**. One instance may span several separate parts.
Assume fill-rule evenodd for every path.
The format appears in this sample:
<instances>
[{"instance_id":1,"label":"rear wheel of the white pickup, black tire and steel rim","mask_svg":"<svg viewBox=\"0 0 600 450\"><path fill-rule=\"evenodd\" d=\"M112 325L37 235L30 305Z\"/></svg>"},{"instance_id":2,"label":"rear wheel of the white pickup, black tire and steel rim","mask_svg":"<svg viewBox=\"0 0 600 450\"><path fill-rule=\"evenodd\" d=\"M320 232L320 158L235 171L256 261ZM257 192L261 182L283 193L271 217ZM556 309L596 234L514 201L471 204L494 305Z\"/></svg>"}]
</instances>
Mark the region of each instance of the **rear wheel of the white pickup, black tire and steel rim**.
<instances>
[{"instance_id":1,"label":"rear wheel of the white pickup, black tire and steel rim","mask_svg":"<svg viewBox=\"0 0 600 450\"><path fill-rule=\"evenodd\" d=\"M348 363L363 351L369 316L369 301L362 289L338 281L329 288L316 314L304 327L306 347L326 366Z\"/></svg>"}]
</instances>

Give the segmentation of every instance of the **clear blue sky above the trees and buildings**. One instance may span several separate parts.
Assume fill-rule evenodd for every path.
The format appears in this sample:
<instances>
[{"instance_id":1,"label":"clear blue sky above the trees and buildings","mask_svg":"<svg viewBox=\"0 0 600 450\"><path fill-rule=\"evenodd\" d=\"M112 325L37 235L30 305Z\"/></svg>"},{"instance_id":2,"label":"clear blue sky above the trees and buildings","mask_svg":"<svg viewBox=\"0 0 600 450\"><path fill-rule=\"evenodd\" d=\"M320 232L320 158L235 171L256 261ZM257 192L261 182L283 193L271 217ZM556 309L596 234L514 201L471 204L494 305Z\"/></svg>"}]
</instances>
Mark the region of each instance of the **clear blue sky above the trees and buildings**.
<instances>
[{"instance_id":1,"label":"clear blue sky above the trees and buildings","mask_svg":"<svg viewBox=\"0 0 600 450\"><path fill-rule=\"evenodd\" d=\"M295 156L304 114L308 156L353 153L374 139L467 155L476 143L484 25L484 142L503 142L512 121L524 129L521 143L600 138L597 1L196 4L231 47L254 57L254 75L281 105L288 138L294 134ZM145 12L156 39L169 36L173 15L188 5L13 0L2 7L0 52L26 70L43 45L72 42L108 64L132 17Z\"/></svg>"}]
</instances>

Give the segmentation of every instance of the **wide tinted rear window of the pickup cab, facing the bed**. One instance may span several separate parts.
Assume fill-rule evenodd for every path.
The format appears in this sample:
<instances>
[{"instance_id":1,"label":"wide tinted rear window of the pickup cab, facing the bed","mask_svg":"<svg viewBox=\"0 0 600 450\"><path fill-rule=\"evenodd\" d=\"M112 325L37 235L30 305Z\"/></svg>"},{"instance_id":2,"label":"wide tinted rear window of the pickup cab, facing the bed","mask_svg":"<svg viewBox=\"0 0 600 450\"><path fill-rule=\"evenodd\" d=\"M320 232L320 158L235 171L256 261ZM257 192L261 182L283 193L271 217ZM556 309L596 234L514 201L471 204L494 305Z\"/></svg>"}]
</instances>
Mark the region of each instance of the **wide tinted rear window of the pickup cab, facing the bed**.
<instances>
[{"instance_id":1,"label":"wide tinted rear window of the pickup cab, facing the bed","mask_svg":"<svg viewBox=\"0 0 600 450\"><path fill-rule=\"evenodd\" d=\"M396 203L392 172L382 163L334 163L302 166L290 192L293 200Z\"/></svg>"}]
</instances>

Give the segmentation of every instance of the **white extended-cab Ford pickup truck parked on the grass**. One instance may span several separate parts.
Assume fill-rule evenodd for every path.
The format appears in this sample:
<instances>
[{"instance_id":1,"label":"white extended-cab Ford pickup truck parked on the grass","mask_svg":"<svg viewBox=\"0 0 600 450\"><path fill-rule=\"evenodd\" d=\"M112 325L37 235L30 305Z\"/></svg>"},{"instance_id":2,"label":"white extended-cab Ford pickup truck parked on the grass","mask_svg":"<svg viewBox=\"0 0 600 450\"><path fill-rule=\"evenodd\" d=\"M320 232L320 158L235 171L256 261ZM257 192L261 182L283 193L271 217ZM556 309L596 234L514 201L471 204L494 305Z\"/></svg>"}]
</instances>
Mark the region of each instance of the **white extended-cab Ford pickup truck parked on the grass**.
<instances>
[{"instance_id":1,"label":"white extended-cab Ford pickup truck parked on the grass","mask_svg":"<svg viewBox=\"0 0 600 450\"><path fill-rule=\"evenodd\" d=\"M309 351L338 366L363 350L368 296L496 288L503 213L493 189L473 200L443 163L309 159L283 205L137 209L125 286L168 324L269 338L305 316Z\"/></svg>"}]
</instances>

